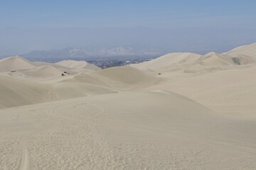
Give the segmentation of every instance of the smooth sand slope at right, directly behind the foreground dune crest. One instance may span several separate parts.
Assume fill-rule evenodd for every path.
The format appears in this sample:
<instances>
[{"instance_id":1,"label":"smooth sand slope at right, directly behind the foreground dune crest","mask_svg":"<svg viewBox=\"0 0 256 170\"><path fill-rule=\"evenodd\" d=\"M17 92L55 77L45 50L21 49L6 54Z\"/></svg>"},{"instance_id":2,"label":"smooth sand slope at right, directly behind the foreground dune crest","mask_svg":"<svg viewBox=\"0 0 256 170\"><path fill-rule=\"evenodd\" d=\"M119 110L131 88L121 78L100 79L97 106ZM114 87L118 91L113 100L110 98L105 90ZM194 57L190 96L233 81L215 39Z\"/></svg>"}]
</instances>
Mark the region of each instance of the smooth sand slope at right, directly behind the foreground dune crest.
<instances>
[{"instance_id":1,"label":"smooth sand slope at right, directly behind the foreground dune crest","mask_svg":"<svg viewBox=\"0 0 256 170\"><path fill-rule=\"evenodd\" d=\"M164 84L157 84L148 90L174 91L224 114L256 117L255 67L200 75L184 74L169 74Z\"/></svg>"}]
</instances>

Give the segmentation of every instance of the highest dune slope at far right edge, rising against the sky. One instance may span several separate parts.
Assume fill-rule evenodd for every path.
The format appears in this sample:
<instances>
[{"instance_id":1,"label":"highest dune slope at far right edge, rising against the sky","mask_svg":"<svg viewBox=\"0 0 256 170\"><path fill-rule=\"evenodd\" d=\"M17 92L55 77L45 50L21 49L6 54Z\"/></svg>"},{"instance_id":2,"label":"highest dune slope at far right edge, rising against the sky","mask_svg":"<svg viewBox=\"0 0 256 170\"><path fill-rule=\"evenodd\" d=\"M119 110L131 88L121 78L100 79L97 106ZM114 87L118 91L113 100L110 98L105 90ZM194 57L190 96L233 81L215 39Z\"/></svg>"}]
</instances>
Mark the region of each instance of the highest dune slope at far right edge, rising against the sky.
<instances>
[{"instance_id":1,"label":"highest dune slope at far right edge, rising against the sky","mask_svg":"<svg viewBox=\"0 0 256 170\"><path fill-rule=\"evenodd\" d=\"M233 56L246 55L248 57L252 57L256 59L256 43L253 43L251 45L242 45L240 47L236 47L233 50L230 50L229 52L225 52L223 54L233 55Z\"/></svg>"}]
</instances>

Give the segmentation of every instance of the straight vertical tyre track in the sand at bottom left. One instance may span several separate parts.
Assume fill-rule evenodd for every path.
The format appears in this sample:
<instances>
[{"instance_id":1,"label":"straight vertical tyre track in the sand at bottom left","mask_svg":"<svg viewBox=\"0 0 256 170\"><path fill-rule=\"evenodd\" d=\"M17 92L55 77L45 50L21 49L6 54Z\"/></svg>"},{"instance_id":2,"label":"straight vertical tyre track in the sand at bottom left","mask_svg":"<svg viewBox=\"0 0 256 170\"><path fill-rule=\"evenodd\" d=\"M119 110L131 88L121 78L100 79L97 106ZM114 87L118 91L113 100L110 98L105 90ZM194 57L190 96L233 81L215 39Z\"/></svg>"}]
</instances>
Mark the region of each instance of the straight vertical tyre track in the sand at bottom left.
<instances>
[{"instance_id":1,"label":"straight vertical tyre track in the sand at bottom left","mask_svg":"<svg viewBox=\"0 0 256 170\"><path fill-rule=\"evenodd\" d=\"M21 142L21 164L19 170L28 170L29 158L28 158L28 148L26 142L26 136L23 137Z\"/></svg>"}]
</instances>

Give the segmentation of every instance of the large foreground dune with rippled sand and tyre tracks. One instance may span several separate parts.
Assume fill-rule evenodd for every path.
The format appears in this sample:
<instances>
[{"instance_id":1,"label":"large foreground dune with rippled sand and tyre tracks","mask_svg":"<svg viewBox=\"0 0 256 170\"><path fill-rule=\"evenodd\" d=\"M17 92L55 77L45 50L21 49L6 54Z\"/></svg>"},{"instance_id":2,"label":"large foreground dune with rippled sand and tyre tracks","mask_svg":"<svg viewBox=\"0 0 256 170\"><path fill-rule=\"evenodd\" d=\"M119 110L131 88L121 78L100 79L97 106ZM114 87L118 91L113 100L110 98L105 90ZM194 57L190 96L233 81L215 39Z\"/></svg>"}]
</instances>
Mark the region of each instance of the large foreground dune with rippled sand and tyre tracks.
<instances>
[{"instance_id":1,"label":"large foreground dune with rippled sand and tyre tracks","mask_svg":"<svg viewBox=\"0 0 256 170\"><path fill-rule=\"evenodd\" d=\"M216 115L165 91L78 98L0 114L1 169L256 167L255 120Z\"/></svg>"}]
</instances>

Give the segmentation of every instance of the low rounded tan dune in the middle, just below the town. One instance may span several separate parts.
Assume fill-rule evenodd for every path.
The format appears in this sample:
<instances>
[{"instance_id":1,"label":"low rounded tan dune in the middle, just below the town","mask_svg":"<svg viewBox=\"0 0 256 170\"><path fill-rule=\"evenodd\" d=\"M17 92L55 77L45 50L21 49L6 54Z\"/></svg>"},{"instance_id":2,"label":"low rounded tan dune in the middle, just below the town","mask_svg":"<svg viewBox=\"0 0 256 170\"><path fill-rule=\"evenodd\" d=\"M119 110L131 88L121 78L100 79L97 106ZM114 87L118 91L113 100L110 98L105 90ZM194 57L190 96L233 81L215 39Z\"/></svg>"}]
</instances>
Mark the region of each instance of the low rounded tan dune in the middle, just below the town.
<instances>
[{"instance_id":1,"label":"low rounded tan dune in the middle, just below the town","mask_svg":"<svg viewBox=\"0 0 256 170\"><path fill-rule=\"evenodd\" d=\"M156 84L159 81L161 81L160 78L146 74L139 69L123 66L78 74L62 82L95 84L115 90L128 90Z\"/></svg>"}]
</instances>

